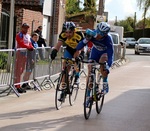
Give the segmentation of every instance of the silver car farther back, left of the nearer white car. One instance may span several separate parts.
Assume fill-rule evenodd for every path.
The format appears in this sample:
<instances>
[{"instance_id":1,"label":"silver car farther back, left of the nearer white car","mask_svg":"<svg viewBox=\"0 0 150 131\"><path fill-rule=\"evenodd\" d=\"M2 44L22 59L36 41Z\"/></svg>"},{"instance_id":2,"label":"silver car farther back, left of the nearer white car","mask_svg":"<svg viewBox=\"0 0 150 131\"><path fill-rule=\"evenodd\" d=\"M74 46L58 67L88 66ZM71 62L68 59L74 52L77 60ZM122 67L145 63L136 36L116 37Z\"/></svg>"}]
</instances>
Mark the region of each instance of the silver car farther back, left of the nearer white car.
<instances>
[{"instance_id":1,"label":"silver car farther back, left of the nearer white car","mask_svg":"<svg viewBox=\"0 0 150 131\"><path fill-rule=\"evenodd\" d=\"M127 37L127 38L124 38L124 41L126 42L126 47L132 47L132 48L135 47L135 44L136 44L135 38Z\"/></svg>"}]
</instances>

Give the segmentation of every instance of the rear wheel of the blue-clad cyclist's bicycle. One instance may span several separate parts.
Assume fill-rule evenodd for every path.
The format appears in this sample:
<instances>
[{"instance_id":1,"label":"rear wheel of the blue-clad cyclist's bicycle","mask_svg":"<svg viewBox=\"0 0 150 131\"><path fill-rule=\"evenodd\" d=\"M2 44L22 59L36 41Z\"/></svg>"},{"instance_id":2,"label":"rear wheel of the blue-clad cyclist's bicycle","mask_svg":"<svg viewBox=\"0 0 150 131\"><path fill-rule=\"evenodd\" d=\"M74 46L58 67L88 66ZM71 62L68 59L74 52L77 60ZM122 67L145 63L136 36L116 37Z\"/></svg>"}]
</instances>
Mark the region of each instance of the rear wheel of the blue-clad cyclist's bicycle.
<instances>
[{"instance_id":1,"label":"rear wheel of the blue-clad cyclist's bicycle","mask_svg":"<svg viewBox=\"0 0 150 131\"><path fill-rule=\"evenodd\" d=\"M101 76L100 76L101 77ZM100 114L100 112L102 111L102 107L103 107L103 103L104 103L104 94L101 92L102 91L102 77L100 79L100 82L99 82L99 85L98 85L98 88L99 88L99 92L97 92L96 94L96 112L98 114Z\"/></svg>"}]
</instances>

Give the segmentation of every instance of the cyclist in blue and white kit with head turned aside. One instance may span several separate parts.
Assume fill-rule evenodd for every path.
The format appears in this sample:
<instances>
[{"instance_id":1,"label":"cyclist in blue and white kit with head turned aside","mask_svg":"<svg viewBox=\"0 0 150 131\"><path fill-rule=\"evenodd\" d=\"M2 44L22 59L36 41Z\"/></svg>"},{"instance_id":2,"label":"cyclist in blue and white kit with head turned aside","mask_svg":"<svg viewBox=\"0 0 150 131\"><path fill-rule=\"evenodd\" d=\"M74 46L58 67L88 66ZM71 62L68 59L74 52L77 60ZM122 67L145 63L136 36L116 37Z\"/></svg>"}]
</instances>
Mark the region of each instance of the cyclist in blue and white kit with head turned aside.
<instances>
[{"instance_id":1,"label":"cyclist in blue and white kit with head turned aside","mask_svg":"<svg viewBox=\"0 0 150 131\"><path fill-rule=\"evenodd\" d=\"M104 93L108 93L109 86L108 86L108 74L109 74L109 67L111 67L113 63L113 40L111 35L109 34L110 26L106 22L100 22L97 25L95 30L86 30L85 39L79 42L78 46L76 47L76 54L86 46L88 41L93 43L93 47L91 49L91 53L89 56L89 61L95 60L98 63L107 62L107 67L104 69L102 65L100 71L103 77L103 86L105 87ZM91 72L91 65L88 65L88 74Z\"/></svg>"}]
</instances>

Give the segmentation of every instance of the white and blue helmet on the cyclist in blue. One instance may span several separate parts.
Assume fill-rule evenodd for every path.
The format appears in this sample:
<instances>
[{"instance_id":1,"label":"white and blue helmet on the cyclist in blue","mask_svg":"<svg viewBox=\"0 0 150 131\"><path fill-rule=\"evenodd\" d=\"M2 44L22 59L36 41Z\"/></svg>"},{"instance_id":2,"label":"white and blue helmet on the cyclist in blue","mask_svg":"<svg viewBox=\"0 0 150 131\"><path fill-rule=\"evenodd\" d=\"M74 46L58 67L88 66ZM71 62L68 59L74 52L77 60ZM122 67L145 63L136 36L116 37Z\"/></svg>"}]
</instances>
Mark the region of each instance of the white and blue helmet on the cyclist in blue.
<instances>
[{"instance_id":1,"label":"white and blue helmet on the cyclist in blue","mask_svg":"<svg viewBox=\"0 0 150 131\"><path fill-rule=\"evenodd\" d=\"M97 34L100 34L101 36L104 36L108 34L110 31L110 25L107 24L106 22L101 22L97 25Z\"/></svg>"}]
</instances>

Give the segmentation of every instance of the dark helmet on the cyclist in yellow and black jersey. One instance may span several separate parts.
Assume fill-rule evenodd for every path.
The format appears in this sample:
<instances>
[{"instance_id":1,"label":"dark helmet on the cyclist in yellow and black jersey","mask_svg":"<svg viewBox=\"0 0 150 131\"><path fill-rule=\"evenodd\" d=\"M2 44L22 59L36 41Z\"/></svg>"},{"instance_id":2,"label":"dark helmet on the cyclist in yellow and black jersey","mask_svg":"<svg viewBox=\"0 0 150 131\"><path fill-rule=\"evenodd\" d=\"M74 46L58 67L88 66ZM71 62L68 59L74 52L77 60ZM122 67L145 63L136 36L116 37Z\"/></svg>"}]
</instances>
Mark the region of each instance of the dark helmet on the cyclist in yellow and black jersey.
<instances>
[{"instance_id":1,"label":"dark helmet on the cyclist in yellow and black jersey","mask_svg":"<svg viewBox=\"0 0 150 131\"><path fill-rule=\"evenodd\" d=\"M65 22L65 23L63 23L62 30L63 31L66 31L66 30L74 31L75 28L76 28L76 26L73 22Z\"/></svg>"}]
</instances>

